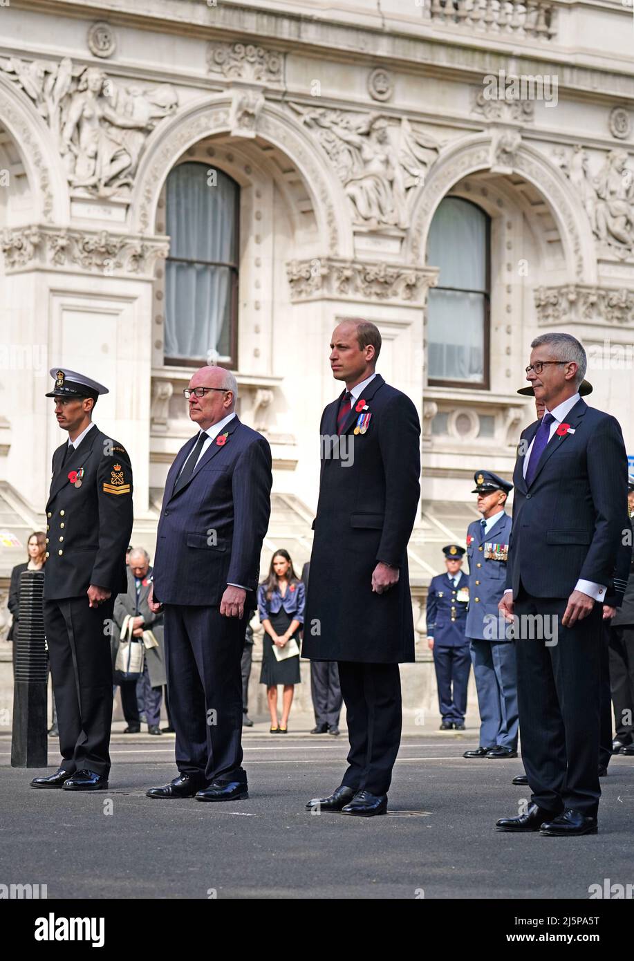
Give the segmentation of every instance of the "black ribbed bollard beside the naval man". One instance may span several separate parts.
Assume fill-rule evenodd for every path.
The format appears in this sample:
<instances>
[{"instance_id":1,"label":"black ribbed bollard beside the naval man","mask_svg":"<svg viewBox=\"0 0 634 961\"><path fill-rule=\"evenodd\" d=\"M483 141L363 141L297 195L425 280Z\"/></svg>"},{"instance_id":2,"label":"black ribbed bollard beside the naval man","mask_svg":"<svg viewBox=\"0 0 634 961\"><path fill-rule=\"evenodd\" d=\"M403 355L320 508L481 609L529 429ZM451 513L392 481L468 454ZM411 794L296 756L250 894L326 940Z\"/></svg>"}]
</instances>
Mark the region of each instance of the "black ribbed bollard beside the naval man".
<instances>
[{"instance_id":1,"label":"black ribbed bollard beside the naval man","mask_svg":"<svg viewBox=\"0 0 634 961\"><path fill-rule=\"evenodd\" d=\"M20 619L13 638L12 768L41 768L48 763L43 592L43 571L24 571L20 576Z\"/></svg>"}]
</instances>

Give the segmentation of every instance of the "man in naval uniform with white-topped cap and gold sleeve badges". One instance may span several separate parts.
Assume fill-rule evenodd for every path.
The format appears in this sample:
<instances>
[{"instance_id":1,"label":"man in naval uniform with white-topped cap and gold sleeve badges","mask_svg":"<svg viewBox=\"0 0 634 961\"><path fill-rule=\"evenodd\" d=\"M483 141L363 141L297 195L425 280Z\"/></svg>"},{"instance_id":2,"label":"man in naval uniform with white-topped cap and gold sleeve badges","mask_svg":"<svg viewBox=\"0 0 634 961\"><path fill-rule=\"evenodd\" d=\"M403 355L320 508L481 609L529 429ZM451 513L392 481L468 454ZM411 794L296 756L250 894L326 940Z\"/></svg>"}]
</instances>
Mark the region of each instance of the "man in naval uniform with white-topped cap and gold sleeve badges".
<instances>
[{"instance_id":1,"label":"man in naval uniform with white-topped cap and gold sleeve badges","mask_svg":"<svg viewBox=\"0 0 634 961\"><path fill-rule=\"evenodd\" d=\"M133 527L130 457L92 422L108 388L53 368L55 415L68 440L53 455L46 505L44 630L58 707L61 764L33 787L108 787L112 720L110 626L126 590Z\"/></svg>"}]
</instances>

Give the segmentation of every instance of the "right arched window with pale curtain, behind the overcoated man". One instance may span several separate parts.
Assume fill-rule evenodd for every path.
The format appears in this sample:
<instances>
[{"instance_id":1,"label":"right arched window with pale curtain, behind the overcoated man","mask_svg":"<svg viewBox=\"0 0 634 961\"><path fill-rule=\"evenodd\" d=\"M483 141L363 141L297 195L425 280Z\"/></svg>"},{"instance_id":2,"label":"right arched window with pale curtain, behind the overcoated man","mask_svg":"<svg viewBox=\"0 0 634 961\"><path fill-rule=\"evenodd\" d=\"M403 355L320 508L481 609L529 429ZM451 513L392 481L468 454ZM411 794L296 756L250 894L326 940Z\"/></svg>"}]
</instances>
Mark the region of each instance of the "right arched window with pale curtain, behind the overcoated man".
<instances>
[{"instance_id":1,"label":"right arched window with pale curtain, behind the overcoated man","mask_svg":"<svg viewBox=\"0 0 634 961\"><path fill-rule=\"evenodd\" d=\"M490 218L446 197L436 210L427 263L440 268L427 306L427 382L489 386Z\"/></svg>"}]
</instances>

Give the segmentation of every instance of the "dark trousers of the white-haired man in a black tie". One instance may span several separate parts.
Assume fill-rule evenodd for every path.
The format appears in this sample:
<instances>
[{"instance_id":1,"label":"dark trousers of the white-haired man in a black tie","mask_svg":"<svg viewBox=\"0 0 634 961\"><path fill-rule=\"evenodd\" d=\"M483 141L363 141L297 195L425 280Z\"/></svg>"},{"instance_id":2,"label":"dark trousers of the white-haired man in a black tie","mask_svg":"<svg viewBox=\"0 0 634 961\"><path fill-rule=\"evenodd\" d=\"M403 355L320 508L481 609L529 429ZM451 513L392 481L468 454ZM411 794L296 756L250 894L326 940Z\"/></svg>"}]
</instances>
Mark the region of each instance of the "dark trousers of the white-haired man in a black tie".
<instances>
[{"instance_id":1,"label":"dark trousers of the white-haired man in a black tie","mask_svg":"<svg viewBox=\"0 0 634 961\"><path fill-rule=\"evenodd\" d=\"M245 619L218 607L165 604L165 668L176 763L201 784L246 783L242 764Z\"/></svg>"}]
</instances>

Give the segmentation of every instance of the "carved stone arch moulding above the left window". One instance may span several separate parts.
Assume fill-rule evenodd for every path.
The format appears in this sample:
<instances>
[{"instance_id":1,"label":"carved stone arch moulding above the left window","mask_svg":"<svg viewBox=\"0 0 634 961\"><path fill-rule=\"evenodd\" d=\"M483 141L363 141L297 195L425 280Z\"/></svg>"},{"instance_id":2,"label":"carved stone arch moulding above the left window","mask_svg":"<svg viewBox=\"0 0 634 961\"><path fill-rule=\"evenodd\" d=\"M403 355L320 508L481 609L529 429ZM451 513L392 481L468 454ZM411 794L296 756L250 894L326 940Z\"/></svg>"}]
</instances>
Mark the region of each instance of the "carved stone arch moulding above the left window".
<instances>
[{"instance_id":1,"label":"carved stone arch moulding above the left window","mask_svg":"<svg viewBox=\"0 0 634 961\"><path fill-rule=\"evenodd\" d=\"M139 163L130 207L133 233L154 233L158 197L169 171L184 151L215 134L232 134L231 95L198 102L169 123L159 125L150 136ZM353 234L341 184L305 130L280 109L265 102L250 132L250 136L254 135L279 148L300 172L312 199L319 233L328 244L325 253L332 257L352 257Z\"/></svg>"}]
</instances>

